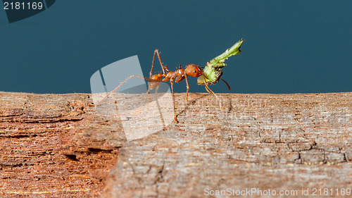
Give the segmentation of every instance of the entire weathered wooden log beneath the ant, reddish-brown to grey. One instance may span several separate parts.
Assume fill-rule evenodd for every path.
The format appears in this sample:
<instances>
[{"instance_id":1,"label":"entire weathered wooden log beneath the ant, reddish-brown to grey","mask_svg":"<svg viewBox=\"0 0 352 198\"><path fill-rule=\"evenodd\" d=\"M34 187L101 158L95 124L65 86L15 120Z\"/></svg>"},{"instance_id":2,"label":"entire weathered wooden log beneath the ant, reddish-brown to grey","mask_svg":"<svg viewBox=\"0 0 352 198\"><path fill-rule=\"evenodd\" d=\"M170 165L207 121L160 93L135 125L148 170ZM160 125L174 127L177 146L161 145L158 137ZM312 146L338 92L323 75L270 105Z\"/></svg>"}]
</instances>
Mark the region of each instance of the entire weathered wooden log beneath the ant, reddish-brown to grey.
<instances>
[{"instance_id":1,"label":"entire weathered wooden log beneath the ant, reddish-brown to grey","mask_svg":"<svg viewBox=\"0 0 352 198\"><path fill-rule=\"evenodd\" d=\"M352 93L218 96L222 111L210 94L177 94L180 123L127 142L120 118L97 114L90 94L0 92L0 193L215 197L205 189L258 188L307 197L309 188L312 197L327 187L324 197L338 197L352 188Z\"/></svg>"}]
</instances>

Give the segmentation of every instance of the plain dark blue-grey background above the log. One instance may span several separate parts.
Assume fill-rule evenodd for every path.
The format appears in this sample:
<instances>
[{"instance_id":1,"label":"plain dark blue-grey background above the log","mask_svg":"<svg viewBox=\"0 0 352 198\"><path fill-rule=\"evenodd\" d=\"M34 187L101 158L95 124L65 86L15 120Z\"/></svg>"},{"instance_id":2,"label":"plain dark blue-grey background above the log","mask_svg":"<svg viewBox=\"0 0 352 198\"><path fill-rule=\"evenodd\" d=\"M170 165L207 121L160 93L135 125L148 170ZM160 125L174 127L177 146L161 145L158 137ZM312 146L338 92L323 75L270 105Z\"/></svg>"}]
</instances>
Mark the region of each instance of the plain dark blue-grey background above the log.
<instances>
[{"instance_id":1,"label":"plain dark blue-grey background above the log","mask_svg":"<svg viewBox=\"0 0 352 198\"><path fill-rule=\"evenodd\" d=\"M122 58L138 55L147 76L156 48L170 69L205 66L241 38L222 75L231 92L352 91L352 1L60 0L11 24L0 11L0 30L0 91L88 93L90 76Z\"/></svg>"}]
</instances>

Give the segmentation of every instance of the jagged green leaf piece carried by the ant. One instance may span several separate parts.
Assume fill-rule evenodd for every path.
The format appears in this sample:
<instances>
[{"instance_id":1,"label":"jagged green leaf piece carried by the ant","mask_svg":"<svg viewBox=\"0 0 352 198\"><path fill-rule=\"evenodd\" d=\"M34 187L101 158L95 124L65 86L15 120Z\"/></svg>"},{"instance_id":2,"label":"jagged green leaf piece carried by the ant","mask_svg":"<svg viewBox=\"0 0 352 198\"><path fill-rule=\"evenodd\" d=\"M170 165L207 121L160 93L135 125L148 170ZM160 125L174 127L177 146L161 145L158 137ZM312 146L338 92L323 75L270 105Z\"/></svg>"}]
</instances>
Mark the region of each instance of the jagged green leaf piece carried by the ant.
<instances>
[{"instance_id":1,"label":"jagged green leaf piece carried by the ant","mask_svg":"<svg viewBox=\"0 0 352 198\"><path fill-rule=\"evenodd\" d=\"M224 53L220 54L219 56L216 56L211 61L208 61L208 63L206 63L206 67L203 69L203 73L206 76L206 79L204 79L203 75L199 76L199 78L197 79L198 85L205 84L205 80L208 85L214 85L218 83L222 75L222 68L226 66L226 64L224 63L225 60L230 56L234 56L241 53L241 50L239 50L239 48L241 47L243 42L243 39L239 40L232 47L227 49Z\"/></svg>"}]
</instances>

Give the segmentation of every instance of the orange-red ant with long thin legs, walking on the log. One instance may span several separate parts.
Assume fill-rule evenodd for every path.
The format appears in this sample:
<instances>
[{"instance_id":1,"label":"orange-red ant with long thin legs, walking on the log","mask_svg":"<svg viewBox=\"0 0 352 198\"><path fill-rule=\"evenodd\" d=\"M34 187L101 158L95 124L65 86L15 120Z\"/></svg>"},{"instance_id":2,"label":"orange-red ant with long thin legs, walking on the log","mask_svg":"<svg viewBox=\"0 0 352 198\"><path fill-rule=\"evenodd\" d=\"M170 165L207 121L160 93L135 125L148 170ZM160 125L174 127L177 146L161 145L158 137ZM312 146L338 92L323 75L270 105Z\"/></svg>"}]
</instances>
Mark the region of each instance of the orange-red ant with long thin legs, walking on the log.
<instances>
[{"instance_id":1,"label":"orange-red ant with long thin legs, walking on the log","mask_svg":"<svg viewBox=\"0 0 352 198\"><path fill-rule=\"evenodd\" d=\"M159 62L161 63L161 68L163 69L163 73L158 73L158 74L153 75L153 67L154 67L154 60L155 60L156 54L158 55ZM203 74L203 70L201 70L201 68L199 66L196 66L194 64L189 64L186 68L182 68L182 64L180 64L180 68L178 68L175 71L170 71L168 69L168 66L163 66L163 62L161 61L161 56L159 54L159 51L158 51L158 49L156 49L154 51L154 55L153 55L153 62L151 63L151 72L149 73L149 78L145 78L145 77L140 76L140 75L131 75L125 81L121 82L121 84L118 85L118 87L116 87L115 89L113 89L113 91L111 91L108 95L106 95L106 97L101 99L101 101L106 99L110 94L115 92L118 88L121 87L122 84L127 82L127 80L129 80L132 77L142 78L144 80L148 80L149 81L149 87L148 87L148 92L147 93L149 93L149 91L151 89L157 88L158 85L160 84L160 82L168 82L168 81L170 81L171 92L172 92L172 101L173 101L174 120L176 121L176 123L178 123L177 115L175 113L174 82L180 82L180 81L182 81L184 79L186 80L186 85L187 85L186 100L188 101L189 83L188 83L187 76L199 77L201 75L203 75L204 78L206 78L206 75ZM225 82L225 80L223 80L223 81ZM230 86L227 84L227 82L225 82L225 83L226 83L227 87L230 89ZM214 96L216 98L218 98L216 96L216 94L208 87L208 83L207 82L204 85L206 86L207 92L209 92L211 94L214 94ZM101 101L99 101L96 105L100 104ZM220 103L220 108L222 108L221 107L221 103Z\"/></svg>"}]
</instances>

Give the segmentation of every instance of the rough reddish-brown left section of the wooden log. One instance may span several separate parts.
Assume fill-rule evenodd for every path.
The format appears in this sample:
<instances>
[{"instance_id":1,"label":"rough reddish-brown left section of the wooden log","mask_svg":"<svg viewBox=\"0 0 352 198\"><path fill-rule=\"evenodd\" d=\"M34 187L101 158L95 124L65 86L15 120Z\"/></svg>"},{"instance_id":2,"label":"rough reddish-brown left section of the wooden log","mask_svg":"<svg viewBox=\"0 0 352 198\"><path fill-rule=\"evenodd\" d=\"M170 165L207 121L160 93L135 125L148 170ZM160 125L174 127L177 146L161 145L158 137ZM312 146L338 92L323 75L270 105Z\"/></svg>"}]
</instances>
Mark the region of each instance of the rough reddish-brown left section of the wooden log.
<instances>
[{"instance_id":1,"label":"rough reddish-brown left section of the wooden log","mask_svg":"<svg viewBox=\"0 0 352 198\"><path fill-rule=\"evenodd\" d=\"M99 196L125 137L89 102L89 94L0 93L0 197Z\"/></svg>"}]
</instances>

